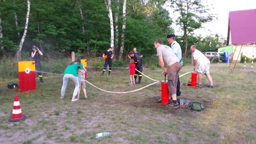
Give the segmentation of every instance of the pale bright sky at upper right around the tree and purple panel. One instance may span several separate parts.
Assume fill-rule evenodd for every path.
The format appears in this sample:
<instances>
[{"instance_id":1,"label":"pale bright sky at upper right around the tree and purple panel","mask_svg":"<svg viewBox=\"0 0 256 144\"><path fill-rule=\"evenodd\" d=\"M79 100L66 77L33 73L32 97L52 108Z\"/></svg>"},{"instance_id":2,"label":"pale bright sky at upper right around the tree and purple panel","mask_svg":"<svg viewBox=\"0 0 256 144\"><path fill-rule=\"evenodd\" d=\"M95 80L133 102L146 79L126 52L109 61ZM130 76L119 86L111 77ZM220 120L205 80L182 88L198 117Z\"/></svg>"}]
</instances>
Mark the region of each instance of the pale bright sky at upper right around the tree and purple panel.
<instances>
[{"instance_id":1,"label":"pale bright sky at upper right around the tree and purple panel","mask_svg":"<svg viewBox=\"0 0 256 144\"><path fill-rule=\"evenodd\" d=\"M223 38L227 38L228 13L230 11L256 9L256 0L202 0L202 3L211 6L213 8L211 13L214 13L216 17L218 17L218 19L203 24L204 28L195 31L195 35L202 36L214 35L217 33L218 35L223 36ZM256 15L254 19L256 19ZM175 29L175 33L177 33L176 35L180 35L179 26L175 25L176 24L173 22L172 28Z\"/></svg>"}]
</instances>

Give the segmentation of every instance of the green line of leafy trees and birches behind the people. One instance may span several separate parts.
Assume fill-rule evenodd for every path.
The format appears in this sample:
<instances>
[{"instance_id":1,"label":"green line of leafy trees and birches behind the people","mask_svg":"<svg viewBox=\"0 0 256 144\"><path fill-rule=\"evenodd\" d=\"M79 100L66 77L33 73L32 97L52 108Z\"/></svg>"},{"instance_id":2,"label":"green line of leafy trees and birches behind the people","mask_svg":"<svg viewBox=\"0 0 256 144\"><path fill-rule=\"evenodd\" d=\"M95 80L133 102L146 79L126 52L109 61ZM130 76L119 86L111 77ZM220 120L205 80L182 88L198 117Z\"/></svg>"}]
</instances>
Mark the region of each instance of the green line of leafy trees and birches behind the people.
<instances>
[{"instance_id":1,"label":"green line of leafy trees and birches behind the people","mask_svg":"<svg viewBox=\"0 0 256 144\"><path fill-rule=\"evenodd\" d=\"M179 17L172 19L164 4ZM185 57L189 44L204 49L220 45L218 35L193 36L195 29L214 19L201 0L1 0L0 5L1 56L31 51L32 45L44 52L87 56L110 45L118 59L133 47L152 55L154 40L166 41L165 36L174 33L172 23L184 32L177 41Z\"/></svg>"}]
</instances>

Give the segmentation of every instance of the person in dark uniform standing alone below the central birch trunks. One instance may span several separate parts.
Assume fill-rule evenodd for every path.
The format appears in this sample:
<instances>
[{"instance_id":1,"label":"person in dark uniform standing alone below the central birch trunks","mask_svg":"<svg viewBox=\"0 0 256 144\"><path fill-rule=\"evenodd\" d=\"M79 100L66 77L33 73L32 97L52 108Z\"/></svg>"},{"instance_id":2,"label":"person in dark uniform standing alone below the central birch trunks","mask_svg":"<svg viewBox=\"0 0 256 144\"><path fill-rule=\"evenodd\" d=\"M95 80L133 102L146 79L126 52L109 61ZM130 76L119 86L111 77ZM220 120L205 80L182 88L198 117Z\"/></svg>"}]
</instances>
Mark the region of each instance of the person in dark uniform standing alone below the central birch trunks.
<instances>
[{"instance_id":1,"label":"person in dark uniform standing alone below the central birch trunks","mask_svg":"<svg viewBox=\"0 0 256 144\"><path fill-rule=\"evenodd\" d=\"M111 71L112 71L112 61L113 61L113 51L112 51L112 47L108 47L108 50L104 52L104 54L102 54L102 58L105 59L105 63L104 63L104 68L102 71L101 76L104 75L104 72L106 72L106 69L108 67L108 75L110 75Z\"/></svg>"}]
</instances>

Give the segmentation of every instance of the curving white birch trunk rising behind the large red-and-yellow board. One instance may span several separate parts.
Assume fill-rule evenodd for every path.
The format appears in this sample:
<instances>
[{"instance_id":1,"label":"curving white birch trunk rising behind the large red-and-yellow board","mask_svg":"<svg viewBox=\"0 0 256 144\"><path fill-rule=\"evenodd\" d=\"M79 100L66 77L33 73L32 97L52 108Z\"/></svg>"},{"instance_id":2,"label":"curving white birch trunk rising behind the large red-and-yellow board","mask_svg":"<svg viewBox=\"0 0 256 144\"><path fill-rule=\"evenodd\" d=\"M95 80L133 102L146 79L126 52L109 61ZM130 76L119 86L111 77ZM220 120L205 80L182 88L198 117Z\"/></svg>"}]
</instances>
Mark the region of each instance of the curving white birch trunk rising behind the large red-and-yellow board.
<instances>
[{"instance_id":1,"label":"curving white birch trunk rising behind the large red-and-yellow board","mask_svg":"<svg viewBox=\"0 0 256 144\"><path fill-rule=\"evenodd\" d=\"M20 45L19 45L19 50L16 52L16 60L17 61L20 61L21 60L21 56L20 56L20 51L22 49L22 45L25 41L25 38L26 38L26 35L27 35L27 31L28 31L28 21L29 21L29 12L30 12L30 1L27 0L27 3L28 3L28 10L27 10L27 15L26 15L26 24L25 24L25 28L24 28L24 33L23 33L23 36L20 40Z\"/></svg>"}]
</instances>

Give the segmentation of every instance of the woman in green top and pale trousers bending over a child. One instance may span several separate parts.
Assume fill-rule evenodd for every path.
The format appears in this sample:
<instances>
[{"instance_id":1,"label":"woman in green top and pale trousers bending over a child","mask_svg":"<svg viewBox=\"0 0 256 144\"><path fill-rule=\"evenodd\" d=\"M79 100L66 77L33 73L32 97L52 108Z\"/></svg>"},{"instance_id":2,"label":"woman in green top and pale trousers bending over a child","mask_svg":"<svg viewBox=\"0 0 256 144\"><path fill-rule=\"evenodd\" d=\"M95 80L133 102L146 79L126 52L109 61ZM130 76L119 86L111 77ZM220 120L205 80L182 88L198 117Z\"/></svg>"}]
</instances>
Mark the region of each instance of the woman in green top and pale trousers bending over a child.
<instances>
[{"instance_id":1,"label":"woman in green top and pale trousers bending over a child","mask_svg":"<svg viewBox=\"0 0 256 144\"><path fill-rule=\"evenodd\" d=\"M68 67L65 69L64 71L64 76L63 76L63 83L62 83L62 87L61 87L61 99L64 98L65 96L65 91L68 85L68 80L71 79L72 81L74 81L76 87L74 89L73 92L73 97L72 97L72 102L76 102L78 99L76 99L76 95L79 89L79 80L77 77L77 70L78 68L83 68L83 64L81 63L81 58L77 58L76 61L72 61L69 63Z\"/></svg>"}]
</instances>

